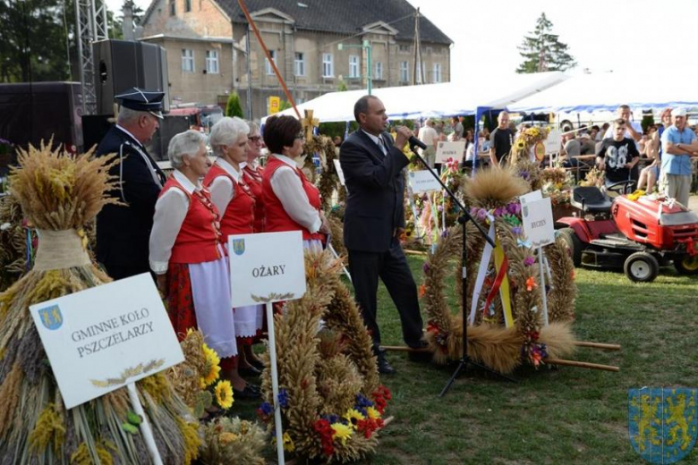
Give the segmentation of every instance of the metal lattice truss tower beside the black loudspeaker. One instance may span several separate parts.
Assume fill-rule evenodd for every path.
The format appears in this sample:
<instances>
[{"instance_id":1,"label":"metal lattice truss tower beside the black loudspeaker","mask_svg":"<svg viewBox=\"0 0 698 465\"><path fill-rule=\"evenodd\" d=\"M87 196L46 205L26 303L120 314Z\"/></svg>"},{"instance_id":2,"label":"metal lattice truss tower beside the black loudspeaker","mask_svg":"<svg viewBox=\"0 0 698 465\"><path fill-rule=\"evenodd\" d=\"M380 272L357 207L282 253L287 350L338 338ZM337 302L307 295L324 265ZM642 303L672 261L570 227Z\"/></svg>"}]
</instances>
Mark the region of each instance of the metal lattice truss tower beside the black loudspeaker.
<instances>
[{"instance_id":1,"label":"metal lattice truss tower beside the black loudspeaker","mask_svg":"<svg viewBox=\"0 0 698 465\"><path fill-rule=\"evenodd\" d=\"M109 38L106 23L106 2L103 0L75 0L80 82L82 87L82 114L97 113L95 75L98 70L92 43Z\"/></svg>"}]
</instances>

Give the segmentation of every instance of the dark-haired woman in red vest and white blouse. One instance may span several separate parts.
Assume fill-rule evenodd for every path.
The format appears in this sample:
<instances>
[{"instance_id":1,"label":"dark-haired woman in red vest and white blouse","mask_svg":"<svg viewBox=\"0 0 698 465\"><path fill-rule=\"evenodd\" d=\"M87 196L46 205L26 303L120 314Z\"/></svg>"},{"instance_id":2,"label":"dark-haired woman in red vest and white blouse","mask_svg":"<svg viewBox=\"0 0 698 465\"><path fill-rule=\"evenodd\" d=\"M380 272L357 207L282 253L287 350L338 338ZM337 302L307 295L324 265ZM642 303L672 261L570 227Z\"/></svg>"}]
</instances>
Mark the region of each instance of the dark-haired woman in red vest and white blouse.
<instances>
[{"instance_id":1,"label":"dark-haired woman in red vest and white blouse","mask_svg":"<svg viewBox=\"0 0 698 465\"><path fill-rule=\"evenodd\" d=\"M330 230L320 210L319 190L295 163L303 151L301 123L293 116L268 118L264 143L271 154L262 174L264 231L301 231L304 248L322 249Z\"/></svg>"}]
</instances>

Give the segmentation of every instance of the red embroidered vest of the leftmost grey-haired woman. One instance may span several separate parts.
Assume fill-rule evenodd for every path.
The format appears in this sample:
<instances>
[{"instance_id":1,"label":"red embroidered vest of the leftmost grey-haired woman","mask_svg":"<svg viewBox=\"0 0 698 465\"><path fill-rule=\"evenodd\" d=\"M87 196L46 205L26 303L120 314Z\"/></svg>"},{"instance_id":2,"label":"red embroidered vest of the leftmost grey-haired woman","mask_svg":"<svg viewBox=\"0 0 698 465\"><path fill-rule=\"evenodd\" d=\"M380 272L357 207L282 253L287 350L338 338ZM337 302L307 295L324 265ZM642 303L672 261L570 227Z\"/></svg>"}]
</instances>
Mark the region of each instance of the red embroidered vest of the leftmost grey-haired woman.
<instances>
[{"instance_id":1,"label":"red embroidered vest of the leftmost grey-haired woman","mask_svg":"<svg viewBox=\"0 0 698 465\"><path fill-rule=\"evenodd\" d=\"M167 190L179 189L189 199L189 210L172 246L170 263L203 263L221 258L220 216L209 191L194 190L192 194L170 176L160 195Z\"/></svg>"}]
</instances>

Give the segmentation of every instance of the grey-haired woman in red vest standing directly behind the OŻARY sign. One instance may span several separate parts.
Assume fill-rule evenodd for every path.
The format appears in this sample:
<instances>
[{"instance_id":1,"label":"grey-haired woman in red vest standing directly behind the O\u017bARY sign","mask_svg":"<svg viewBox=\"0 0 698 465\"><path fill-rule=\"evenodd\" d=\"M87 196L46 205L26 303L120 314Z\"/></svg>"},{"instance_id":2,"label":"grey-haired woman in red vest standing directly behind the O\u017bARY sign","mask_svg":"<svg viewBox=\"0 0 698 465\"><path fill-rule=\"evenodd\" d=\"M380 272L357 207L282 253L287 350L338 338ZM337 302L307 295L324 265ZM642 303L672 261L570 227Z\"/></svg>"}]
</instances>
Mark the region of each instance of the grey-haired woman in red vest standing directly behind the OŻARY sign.
<instances>
[{"instance_id":1,"label":"grey-haired woman in red vest standing directly behind the O\u017bARY sign","mask_svg":"<svg viewBox=\"0 0 698 465\"><path fill-rule=\"evenodd\" d=\"M204 185L211 192L211 199L221 212L221 232L223 241L227 244L231 234L251 234L254 232L255 199L250 186L243 178L243 163L247 161L247 134L250 128L240 118L223 118L211 128L209 143L217 156L209 173L204 178ZM251 345L252 338L257 335L262 326L263 308L261 305L250 305L234 309L235 335L238 342L237 369L244 369L253 374L259 374L259 368L247 360L245 352L251 354L251 349L243 350L244 345ZM256 358L254 358L256 361ZM239 380L243 380L242 377ZM236 395L247 397L249 391L257 390L243 383L233 387ZM259 394L258 394L259 395Z\"/></svg>"}]
</instances>

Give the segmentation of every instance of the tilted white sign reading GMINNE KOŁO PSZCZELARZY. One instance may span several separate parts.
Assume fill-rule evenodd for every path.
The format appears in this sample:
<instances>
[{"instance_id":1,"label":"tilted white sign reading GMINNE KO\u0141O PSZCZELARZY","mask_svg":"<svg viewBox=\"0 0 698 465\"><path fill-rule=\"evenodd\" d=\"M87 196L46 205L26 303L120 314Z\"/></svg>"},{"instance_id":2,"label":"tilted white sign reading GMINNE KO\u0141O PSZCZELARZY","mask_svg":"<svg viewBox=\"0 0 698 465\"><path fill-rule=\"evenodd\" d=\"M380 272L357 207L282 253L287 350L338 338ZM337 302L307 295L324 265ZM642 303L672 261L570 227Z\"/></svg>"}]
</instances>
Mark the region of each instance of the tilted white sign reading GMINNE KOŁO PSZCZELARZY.
<instances>
[{"instance_id":1,"label":"tilted white sign reading GMINNE KO\u0141O PSZCZELARZY","mask_svg":"<svg viewBox=\"0 0 698 465\"><path fill-rule=\"evenodd\" d=\"M184 360L149 274L30 306L66 409Z\"/></svg>"}]
</instances>

